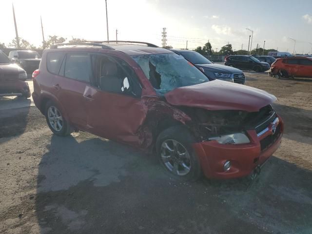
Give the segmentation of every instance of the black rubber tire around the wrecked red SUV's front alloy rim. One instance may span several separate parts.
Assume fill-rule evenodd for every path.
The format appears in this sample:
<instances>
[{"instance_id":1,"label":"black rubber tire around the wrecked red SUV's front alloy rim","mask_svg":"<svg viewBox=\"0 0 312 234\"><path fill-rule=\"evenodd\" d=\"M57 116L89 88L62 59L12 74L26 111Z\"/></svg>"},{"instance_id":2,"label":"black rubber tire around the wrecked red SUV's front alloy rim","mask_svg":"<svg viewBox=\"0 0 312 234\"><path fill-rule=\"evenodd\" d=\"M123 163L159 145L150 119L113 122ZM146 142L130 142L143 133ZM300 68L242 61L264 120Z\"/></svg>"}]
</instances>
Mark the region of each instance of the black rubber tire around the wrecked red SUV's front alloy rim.
<instances>
[{"instance_id":1,"label":"black rubber tire around the wrecked red SUV's front alloy rim","mask_svg":"<svg viewBox=\"0 0 312 234\"><path fill-rule=\"evenodd\" d=\"M163 162L161 157L161 146L166 140L175 140L187 150L190 159L190 171L186 175L180 176L173 173ZM195 143L195 138L183 125L172 126L158 135L156 140L156 154L163 169L171 177L182 181L195 181L201 176L200 162L192 148L192 143Z\"/></svg>"}]
</instances>

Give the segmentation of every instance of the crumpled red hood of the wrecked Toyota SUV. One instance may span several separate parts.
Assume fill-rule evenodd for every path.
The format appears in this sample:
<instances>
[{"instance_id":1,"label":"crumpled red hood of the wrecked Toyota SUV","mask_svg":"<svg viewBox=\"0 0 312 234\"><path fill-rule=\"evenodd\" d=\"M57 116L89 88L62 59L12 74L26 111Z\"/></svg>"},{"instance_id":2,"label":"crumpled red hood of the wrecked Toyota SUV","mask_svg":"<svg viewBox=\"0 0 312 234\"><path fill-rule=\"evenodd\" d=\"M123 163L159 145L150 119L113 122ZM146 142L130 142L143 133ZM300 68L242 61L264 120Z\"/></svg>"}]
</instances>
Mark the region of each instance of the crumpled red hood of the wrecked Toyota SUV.
<instances>
[{"instance_id":1,"label":"crumpled red hood of the wrecked Toyota SUV","mask_svg":"<svg viewBox=\"0 0 312 234\"><path fill-rule=\"evenodd\" d=\"M222 80L176 88L165 94L176 106L190 106L207 110L259 111L277 98L263 90Z\"/></svg>"}]
</instances>

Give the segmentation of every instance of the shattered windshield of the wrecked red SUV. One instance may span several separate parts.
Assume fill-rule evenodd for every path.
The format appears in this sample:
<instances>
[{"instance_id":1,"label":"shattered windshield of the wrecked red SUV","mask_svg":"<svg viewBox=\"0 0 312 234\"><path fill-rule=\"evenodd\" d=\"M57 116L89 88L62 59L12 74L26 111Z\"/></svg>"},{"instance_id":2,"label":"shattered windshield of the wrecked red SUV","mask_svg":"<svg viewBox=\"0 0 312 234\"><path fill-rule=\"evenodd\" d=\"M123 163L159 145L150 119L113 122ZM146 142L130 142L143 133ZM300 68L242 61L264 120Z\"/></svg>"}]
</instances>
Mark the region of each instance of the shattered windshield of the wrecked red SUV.
<instances>
[{"instance_id":1,"label":"shattered windshield of the wrecked red SUV","mask_svg":"<svg viewBox=\"0 0 312 234\"><path fill-rule=\"evenodd\" d=\"M178 87L209 81L192 63L175 53L136 55L132 58L140 65L159 95Z\"/></svg>"}]
</instances>

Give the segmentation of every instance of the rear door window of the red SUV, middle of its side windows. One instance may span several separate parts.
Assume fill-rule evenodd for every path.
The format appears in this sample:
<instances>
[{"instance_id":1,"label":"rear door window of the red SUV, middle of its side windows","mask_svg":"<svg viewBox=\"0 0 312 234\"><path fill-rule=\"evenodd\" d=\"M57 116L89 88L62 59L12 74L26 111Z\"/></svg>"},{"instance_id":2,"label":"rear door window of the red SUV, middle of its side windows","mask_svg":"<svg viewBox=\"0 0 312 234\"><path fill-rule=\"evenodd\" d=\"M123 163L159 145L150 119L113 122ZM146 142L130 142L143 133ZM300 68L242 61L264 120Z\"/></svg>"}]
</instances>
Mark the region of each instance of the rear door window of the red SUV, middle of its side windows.
<instances>
[{"instance_id":1,"label":"rear door window of the red SUV, middle of its side windows","mask_svg":"<svg viewBox=\"0 0 312 234\"><path fill-rule=\"evenodd\" d=\"M67 54L64 76L90 82L91 60L86 53Z\"/></svg>"}]
</instances>

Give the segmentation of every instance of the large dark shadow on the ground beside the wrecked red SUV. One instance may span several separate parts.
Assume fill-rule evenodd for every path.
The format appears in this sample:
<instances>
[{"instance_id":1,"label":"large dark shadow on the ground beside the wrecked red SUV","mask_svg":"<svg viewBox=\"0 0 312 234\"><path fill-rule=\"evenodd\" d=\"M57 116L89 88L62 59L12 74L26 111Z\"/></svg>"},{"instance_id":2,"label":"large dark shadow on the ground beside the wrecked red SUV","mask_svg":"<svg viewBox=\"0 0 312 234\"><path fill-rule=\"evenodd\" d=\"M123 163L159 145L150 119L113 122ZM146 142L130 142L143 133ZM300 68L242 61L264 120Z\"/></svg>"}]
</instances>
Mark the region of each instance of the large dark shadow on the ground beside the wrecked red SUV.
<instances>
[{"instance_id":1,"label":"large dark shadow on the ground beside the wrecked red SUV","mask_svg":"<svg viewBox=\"0 0 312 234\"><path fill-rule=\"evenodd\" d=\"M250 188L242 180L189 183L166 176L154 157L136 149L73 136L53 136L39 163L35 210L41 234L312 228L312 172L277 157Z\"/></svg>"}]
</instances>

